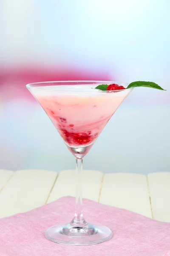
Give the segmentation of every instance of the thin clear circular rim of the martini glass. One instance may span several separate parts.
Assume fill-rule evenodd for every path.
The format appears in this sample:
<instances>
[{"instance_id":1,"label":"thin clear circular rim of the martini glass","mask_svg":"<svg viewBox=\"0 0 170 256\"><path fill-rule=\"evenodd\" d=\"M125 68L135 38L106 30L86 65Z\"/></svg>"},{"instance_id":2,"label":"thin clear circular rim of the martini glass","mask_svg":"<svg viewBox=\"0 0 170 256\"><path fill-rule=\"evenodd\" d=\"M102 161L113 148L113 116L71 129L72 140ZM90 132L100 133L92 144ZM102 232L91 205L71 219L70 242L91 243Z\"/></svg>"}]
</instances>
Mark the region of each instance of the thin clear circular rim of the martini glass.
<instances>
[{"instance_id":1,"label":"thin clear circular rim of the martini glass","mask_svg":"<svg viewBox=\"0 0 170 256\"><path fill-rule=\"evenodd\" d=\"M62 83L85 83L85 84L63 84L62 85ZM61 83L61 84L59 84L58 86L79 86L79 87L81 87L81 86L83 86L83 85L88 85L88 84L86 84L86 83L89 83L89 85L91 85L91 84L126 84L126 85L128 85L129 83L126 83L126 82L118 82L118 81L104 81L104 80L61 80L61 81L42 81L42 82L33 82L33 83L29 83L29 84L26 84L26 87L28 88L28 89L38 89L38 90L46 90L46 89L43 89L43 86L41 86L41 84L45 84L44 86L55 86L55 85L53 85L53 84L51 84L51 83L56 83L56 85L57 84L59 84L59 83ZM47 84L47 85L46 85ZM49 85L48 85L49 84ZM120 91L124 91L124 90L133 90L133 88L125 88L125 89L122 89L122 90L99 90L99 92L103 92L103 93L106 93L106 92L120 92ZM46 90L47 91L47 90ZM77 92L79 92L79 91L82 91L82 90L53 90L53 89L50 89L50 91L68 91L68 92L74 92L74 91L77 91ZM91 90L86 90L85 92L91 92ZM97 91L96 91L97 92Z\"/></svg>"}]
</instances>

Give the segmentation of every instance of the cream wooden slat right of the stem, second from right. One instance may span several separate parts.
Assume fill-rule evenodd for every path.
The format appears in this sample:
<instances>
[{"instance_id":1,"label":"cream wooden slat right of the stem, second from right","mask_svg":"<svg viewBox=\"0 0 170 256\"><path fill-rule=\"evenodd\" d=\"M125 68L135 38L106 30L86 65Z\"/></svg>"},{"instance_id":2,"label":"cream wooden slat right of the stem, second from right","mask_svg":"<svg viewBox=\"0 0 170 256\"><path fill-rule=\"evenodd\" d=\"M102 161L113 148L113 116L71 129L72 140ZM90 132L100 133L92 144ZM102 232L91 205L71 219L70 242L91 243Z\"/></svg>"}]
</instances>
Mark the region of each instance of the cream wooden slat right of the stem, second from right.
<instances>
[{"instance_id":1,"label":"cream wooden slat right of the stem, second from right","mask_svg":"<svg viewBox=\"0 0 170 256\"><path fill-rule=\"evenodd\" d=\"M128 209L152 218L147 177L145 175L106 174L99 201L102 204Z\"/></svg>"}]
</instances>

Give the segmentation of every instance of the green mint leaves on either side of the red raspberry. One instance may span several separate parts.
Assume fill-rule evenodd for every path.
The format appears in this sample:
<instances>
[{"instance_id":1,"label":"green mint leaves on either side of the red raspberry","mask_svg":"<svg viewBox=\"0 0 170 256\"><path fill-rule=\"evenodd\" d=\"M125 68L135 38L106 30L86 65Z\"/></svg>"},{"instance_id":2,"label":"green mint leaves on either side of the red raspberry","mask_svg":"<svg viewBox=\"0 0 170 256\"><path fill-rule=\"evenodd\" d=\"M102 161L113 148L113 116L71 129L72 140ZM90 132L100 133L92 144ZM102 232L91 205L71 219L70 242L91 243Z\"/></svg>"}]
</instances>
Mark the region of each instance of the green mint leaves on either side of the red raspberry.
<instances>
[{"instance_id":1,"label":"green mint leaves on either side of the red raspberry","mask_svg":"<svg viewBox=\"0 0 170 256\"><path fill-rule=\"evenodd\" d=\"M95 89L106 91L107 87L108 87L108 84L99 84L97 87L95 87ZM158 84L156 84L154 82L146 82L146 81L132 82L125 89L129 89L132 87L150 87L150 88L154 88L154 89L158 89L158 90L164 90Z\"/></svg>"}]
</instances>

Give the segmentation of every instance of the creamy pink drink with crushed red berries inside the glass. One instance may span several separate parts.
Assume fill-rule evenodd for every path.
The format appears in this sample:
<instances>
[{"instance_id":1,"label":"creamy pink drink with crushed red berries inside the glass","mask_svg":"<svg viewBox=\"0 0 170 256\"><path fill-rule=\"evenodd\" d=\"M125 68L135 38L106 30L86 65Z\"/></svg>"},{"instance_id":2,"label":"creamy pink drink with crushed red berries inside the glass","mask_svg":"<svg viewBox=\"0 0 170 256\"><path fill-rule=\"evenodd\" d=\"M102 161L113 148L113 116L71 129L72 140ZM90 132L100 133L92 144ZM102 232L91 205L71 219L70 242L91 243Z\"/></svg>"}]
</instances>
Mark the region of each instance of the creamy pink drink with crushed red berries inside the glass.
<instances>
[{"instance_id":1,"label":"creamy pink drink with crushed red berries inside the glass","mask_svg":"<svg viewBox=\"0 0 170 256\"><path fill-rule=\"evenodd\" d=\"M71 92L62 90L63 86L51 86L51 90L47 87L48 90L43 87L42 91L34 91L34 96L65 143L72 147L93 144L129 94L129 90L100 93L91 86L84 86L82 91L71 86Z\"/></svg>"}]
</instances>

